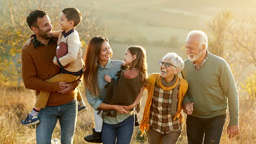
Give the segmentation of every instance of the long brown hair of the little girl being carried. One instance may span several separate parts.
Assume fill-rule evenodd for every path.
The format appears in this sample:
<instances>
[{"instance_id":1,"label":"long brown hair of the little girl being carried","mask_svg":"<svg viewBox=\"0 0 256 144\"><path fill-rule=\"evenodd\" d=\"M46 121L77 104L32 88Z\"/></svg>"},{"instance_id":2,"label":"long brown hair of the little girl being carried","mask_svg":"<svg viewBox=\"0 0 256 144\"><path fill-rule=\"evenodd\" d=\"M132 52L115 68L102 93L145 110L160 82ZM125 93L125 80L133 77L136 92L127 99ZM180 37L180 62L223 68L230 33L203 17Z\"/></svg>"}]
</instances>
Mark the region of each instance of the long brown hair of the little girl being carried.
<instances>
[{"instance_id":1,"label":"long brown hair of the little girl being carried","mask_svg":"<svg viewBox=\"0 0 256 144\"><path fill-rule=\"evenodd\" d=\"M128 69L139 70L140 83L143 85L147 85L148 63L146 50L142 46L129 46L127 49L130 51L132 55L136 55L136 59L132 61Z\"/></svg>"}]
</instances>

